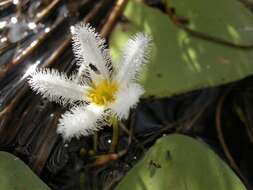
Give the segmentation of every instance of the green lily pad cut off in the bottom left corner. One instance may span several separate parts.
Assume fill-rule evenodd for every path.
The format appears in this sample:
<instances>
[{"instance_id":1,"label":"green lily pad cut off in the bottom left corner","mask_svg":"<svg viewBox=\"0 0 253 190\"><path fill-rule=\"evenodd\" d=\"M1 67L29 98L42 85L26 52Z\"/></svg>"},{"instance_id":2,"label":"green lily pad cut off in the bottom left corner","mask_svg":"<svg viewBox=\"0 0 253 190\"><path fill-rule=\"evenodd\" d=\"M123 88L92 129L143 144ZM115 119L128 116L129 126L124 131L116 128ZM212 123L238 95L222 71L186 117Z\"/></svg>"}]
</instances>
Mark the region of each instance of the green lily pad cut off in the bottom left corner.
<instances>
[{"instance_id":1,"label":"green lily pad cut off in the bottom left corner","mask_svg":"<svg viewBox=\"0 0 253 190\"><path fill-rule=\"evenodd\" d=\"M0 189L50 190L19 158L0 151Z\"/></svg>"}]
</instances>

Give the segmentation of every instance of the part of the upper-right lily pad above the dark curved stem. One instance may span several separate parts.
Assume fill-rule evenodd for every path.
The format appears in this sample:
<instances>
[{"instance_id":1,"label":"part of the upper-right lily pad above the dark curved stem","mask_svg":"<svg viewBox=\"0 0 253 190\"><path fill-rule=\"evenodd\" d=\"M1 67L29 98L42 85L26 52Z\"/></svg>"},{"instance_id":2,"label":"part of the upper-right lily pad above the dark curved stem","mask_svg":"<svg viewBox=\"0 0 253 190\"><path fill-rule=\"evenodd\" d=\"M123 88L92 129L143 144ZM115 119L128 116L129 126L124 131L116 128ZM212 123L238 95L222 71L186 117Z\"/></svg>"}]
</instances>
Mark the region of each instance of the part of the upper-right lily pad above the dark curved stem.
<instances>
[{"instance_id":1,"label":"part of the upper-right lily pad above the dark curved stem","mask_svg":"<svg viewBox=\"0 0 253 190\"><path fill-rule=\"evenodd\" d=\"M253 44L252 13L238 0L164 0L189 28L237 44Z\"/></svg>"}]
</instances>

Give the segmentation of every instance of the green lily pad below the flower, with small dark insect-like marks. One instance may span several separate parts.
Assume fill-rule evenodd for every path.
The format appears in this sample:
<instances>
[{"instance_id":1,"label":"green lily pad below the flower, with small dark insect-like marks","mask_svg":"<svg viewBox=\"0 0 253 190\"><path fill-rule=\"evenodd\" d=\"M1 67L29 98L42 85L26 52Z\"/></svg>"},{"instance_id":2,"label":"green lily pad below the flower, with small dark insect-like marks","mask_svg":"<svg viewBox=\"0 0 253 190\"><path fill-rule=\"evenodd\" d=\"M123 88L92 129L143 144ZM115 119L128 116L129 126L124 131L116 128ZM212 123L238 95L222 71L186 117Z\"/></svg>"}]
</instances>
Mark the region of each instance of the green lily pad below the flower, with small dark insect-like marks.
<instances>
[{"instance_id":1,"label":"green lily pad below the flower, with small dark insect-like marks","mask_svg":"<svg viewBox=\"0 0 253 190\"><path fill-rule=\"evenodd\" d=\"M116 190L246 190L205 144L184 135L160 138Z\"/></svg>"}]
</instances>

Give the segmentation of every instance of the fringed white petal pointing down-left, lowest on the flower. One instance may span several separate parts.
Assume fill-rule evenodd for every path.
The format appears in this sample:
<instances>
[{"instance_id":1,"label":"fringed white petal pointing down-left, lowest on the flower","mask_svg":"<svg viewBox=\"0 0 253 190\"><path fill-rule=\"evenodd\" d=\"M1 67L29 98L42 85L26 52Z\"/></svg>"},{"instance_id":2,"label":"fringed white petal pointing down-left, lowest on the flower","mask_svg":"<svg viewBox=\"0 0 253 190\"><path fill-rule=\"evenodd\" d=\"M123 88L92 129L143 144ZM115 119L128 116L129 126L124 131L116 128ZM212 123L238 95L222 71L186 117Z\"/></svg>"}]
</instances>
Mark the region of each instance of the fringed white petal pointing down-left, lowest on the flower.
<instances>
[{"instance_id":1,"label":"fringed white petal pointing down-left, lowest on the flower","mask_svg":"<svg viewBox=\"0 0 253 190\"><path fill-rule=\"evenodd\" d=\"M93 134L106 124L104 114L103 107L94 104L74 107L60 118L57 133L65 140Z\"/></svg>"}]
</instances>

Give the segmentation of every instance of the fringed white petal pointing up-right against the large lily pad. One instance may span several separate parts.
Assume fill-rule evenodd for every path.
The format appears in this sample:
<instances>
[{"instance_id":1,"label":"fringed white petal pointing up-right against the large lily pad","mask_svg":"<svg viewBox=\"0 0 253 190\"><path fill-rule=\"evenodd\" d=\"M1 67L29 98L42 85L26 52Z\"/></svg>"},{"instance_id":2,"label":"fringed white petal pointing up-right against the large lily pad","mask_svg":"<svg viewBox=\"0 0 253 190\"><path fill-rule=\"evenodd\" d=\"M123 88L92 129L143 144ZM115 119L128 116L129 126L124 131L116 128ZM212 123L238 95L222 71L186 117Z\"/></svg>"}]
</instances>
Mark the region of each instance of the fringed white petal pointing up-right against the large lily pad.
<instances>
[{"instance_id":1,"label":"fringed white petal pointing up-right against the large lily pad","mask_svg":"<svg viewBox=\"0 0 253 190\"><path fill-rule=\"evenodd\" d=\"M128 40L123 49L123 58L118 64L115 78L120 83L135 81L147 62L150 54L151 38L143 33L137 33Z\"/></svg>"}]
</instances>

